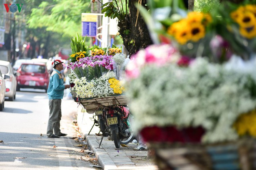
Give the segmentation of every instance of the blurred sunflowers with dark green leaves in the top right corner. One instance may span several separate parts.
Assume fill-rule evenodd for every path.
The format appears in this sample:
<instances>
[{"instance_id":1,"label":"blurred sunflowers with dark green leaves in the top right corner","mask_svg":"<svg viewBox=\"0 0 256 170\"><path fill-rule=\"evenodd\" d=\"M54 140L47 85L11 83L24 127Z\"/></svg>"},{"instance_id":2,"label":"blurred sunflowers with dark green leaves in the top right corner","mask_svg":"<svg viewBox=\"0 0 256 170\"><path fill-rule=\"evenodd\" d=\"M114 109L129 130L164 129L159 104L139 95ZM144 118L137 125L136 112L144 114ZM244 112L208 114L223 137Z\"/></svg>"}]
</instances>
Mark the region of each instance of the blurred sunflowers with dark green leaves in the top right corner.
<instances>
[{"instance_id":1,"label":"blurred sunflowers with dark green leaves in the top right corner","mask_svg":"<svg viewBox=\"0 0 256 170\"><path fill-rule=\"evenodd\" d=\"M228 41L232 51L248 60L256 52L256 1L240 4L223 2L217 32Z\"/></svg>"}]
</instances>

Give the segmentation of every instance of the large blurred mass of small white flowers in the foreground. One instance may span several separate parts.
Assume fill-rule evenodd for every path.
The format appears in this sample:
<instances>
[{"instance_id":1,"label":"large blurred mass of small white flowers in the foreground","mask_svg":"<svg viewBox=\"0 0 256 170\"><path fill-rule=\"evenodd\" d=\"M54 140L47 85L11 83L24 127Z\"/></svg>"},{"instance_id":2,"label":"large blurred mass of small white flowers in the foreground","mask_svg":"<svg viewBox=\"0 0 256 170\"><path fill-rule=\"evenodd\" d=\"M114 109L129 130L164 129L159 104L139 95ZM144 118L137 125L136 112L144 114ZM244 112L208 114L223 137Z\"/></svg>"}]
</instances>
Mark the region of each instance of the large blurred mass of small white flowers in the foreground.
<instances>
[{"instance_id":1,"label":"large blurred mass of small white flowers in the foreground","mask_svg":"<svg viewBox=\"0 0 256 170\"><path fill-rule=\"evenodd\" d=\"M255 89L254 75L197 58L187 68L146 67L126 94L135 129L202 126L203 141L218 142L238 138L232 125L239 115L256 108Z\"/></svg>"}]
</instances>

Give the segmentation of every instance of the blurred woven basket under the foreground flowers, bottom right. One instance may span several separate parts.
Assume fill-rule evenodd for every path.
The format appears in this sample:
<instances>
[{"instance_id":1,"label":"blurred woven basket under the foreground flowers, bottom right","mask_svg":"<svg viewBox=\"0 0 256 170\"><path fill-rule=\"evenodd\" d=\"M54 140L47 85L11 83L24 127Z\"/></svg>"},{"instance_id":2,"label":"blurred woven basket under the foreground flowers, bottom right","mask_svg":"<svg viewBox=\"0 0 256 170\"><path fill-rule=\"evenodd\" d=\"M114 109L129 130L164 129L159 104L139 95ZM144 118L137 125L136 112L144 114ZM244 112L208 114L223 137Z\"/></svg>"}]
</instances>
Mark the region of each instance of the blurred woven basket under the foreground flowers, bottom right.
<instances>
[{"instance_id":1,"label":"blurred woven basket under the foreground flowers, bottom right","mask_svg":"<svg viewBox=\"0 0 256 170\"><path fill-rule=\"evenodd\" d=\"M201 145L149 143L160 170L255 170L256 140Z\"/></svg>"}]
</instances>

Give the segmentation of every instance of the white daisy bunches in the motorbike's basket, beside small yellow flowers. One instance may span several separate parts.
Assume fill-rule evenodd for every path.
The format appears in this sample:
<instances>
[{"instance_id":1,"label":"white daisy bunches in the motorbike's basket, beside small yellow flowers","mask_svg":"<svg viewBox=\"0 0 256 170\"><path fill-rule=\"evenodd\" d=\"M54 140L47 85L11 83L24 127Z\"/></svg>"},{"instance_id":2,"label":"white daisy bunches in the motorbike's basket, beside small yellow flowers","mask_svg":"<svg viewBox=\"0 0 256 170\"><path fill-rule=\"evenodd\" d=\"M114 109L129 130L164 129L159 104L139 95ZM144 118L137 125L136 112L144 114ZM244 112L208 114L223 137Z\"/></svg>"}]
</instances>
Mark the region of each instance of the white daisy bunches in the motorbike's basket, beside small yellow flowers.
<instances>
[{"instance_id":1,"label":"white daisy bunches in the motorbike's basket, beside small yellow flowers","mask_svg":"<svg viewBox=\"0 0 256 170\"><path fill-rule=\"evenodd\" d=\"M77 97L91 98L91 97L106 97L113 95L114 91L110 88L108 79L114 78L116 75L113 71L109 71L98 79L93 79L90 82L85 77L75 80L75 86L72 90L76 91Z\"/></svg>"}]
</instances>

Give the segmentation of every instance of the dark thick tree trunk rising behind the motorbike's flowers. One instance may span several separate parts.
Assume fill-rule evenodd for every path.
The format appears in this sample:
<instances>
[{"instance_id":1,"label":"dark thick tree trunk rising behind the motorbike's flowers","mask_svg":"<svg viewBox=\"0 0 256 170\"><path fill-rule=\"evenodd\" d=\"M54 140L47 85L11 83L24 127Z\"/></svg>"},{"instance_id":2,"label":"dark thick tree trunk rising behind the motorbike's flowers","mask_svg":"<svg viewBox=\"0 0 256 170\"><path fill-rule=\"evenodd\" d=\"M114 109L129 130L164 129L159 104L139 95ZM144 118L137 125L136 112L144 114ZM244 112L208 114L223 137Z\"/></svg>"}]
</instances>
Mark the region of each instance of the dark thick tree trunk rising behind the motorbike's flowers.
<instances>
[{"instance_id":1,"label":"dark thick tree trunk rising behind the motorbike's flowers","mask_svg":"<svg viewBox=\"0 0 256 170\"><path fill-rule=\"evenodd\" d=\"M137 8L135 5L138 4L138 0L129 0L129 15L125 20L119 21L118 27L120 28L119 33L122 36L123 44L130 56L136 53L140 48L146 48L152 44L147 25L143 18L139 15L137 25L136 14ZM146 1L142 0L142 6L145 6Z\"/></svg>"}]
</instances>

